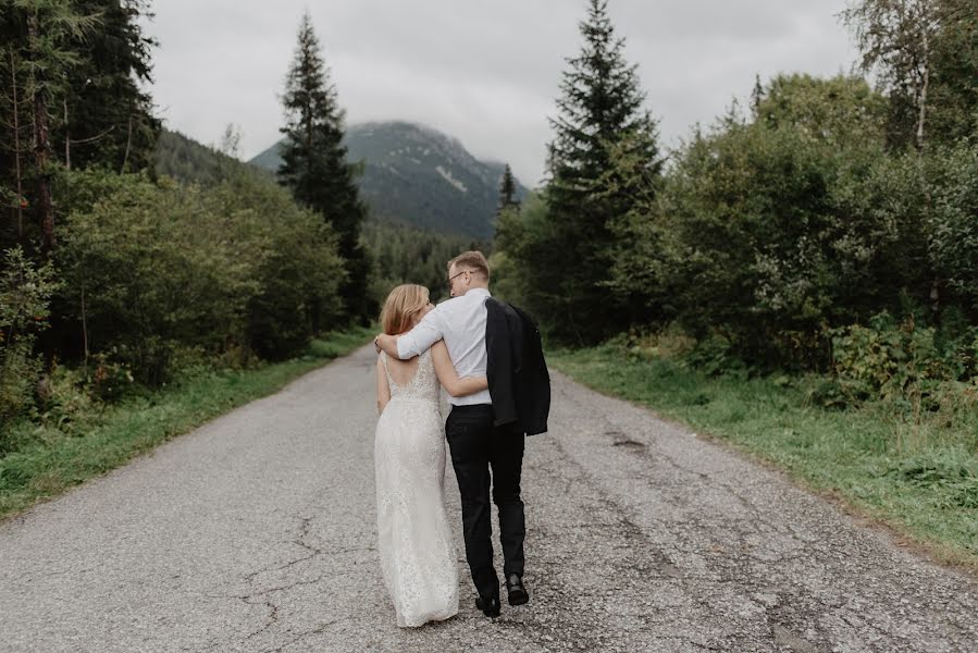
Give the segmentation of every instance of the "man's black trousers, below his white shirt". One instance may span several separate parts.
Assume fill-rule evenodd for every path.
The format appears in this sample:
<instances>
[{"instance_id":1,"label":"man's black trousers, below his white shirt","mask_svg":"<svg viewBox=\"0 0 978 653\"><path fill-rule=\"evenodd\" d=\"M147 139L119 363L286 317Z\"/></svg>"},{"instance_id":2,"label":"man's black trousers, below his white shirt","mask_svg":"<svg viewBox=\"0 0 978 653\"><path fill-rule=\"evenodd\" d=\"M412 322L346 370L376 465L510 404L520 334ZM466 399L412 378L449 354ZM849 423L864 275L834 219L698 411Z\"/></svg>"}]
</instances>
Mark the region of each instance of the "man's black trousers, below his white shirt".
<instances>
[{"instance_id":1,"label":"man's black trousers, below his white shirt","mask_svg":"<svg viewBox=\"0 0 978 653\"><path fill-rule=\"evenodd\" d=\"M466 559L475 590L482 596L499 593L493 567L492 500L499 509L503 572L523 575L523 539L527 526L520 498L523 434L512 424L493 426L493 407L453 406L445 421L445 436L462 502ZM492 473L491 473L492 471Z\"/></svg>"}]
</instances>

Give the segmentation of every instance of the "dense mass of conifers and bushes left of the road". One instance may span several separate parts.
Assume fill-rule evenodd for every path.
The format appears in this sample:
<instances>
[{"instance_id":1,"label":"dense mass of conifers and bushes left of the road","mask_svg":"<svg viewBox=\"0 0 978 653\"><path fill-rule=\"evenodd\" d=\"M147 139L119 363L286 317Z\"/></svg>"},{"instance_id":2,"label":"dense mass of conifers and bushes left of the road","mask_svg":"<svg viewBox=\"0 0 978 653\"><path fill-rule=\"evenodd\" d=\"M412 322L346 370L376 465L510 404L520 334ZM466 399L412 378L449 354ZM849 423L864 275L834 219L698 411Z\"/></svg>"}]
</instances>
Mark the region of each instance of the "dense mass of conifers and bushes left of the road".
<instances>
[{"instance_id":1,"label":"dense mass of conifers and bushes left of the road","mask_svg":"<svg viewBox=\"0 0 978 653\"><path fill-rule=\"evenodd\" d=\"M263 171L158 138L146 2L0 7L0 451L11 420L290 357L362 319L341 295L359 238L332 224L359 206L325 221Z\"/></svg>"}]
</instances>

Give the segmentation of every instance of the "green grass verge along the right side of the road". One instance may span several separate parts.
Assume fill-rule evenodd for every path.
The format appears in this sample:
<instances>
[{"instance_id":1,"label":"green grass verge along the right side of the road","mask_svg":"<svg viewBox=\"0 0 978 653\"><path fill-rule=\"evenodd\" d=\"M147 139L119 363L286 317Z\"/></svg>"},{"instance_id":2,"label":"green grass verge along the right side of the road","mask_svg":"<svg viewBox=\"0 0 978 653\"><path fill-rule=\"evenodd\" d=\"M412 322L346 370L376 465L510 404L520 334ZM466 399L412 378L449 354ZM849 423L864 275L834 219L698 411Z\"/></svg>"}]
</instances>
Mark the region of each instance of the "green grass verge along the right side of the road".
<instances>
[{"instance_id":1,"label":"green grass verge along the right side of the road","mask_svg":"<svg viewBox=\"0 0 978 653\"><path fill-rule=\"evenodd\" d=\"M809 405L805 379L708 377L616 345L556 352L569 377L713 435L841 498L937 558L978 569L978 410L915 420L891 405Z\"/></svg>"}]
</instances>

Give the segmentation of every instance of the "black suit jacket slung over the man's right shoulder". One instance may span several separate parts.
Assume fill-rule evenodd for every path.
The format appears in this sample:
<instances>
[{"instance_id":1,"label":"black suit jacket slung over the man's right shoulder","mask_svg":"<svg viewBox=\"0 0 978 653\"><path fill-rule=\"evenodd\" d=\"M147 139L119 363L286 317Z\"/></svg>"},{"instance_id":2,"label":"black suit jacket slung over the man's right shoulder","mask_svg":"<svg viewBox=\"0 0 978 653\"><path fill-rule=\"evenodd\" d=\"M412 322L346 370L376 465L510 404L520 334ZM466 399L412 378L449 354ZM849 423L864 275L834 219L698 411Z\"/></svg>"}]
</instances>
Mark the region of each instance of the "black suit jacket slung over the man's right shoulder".
<instances>
[{"instance_id":1,"label":"black suit jacket slung over the man's right shoulder","mask_svg":"<svg viewBox=\"0 0 978 653\"><path fill-rule=\"evenodd\" d=\"M525 312L490 297L485 301L486 378L496 426L516 423L527 435L547 430L550 377L540 331Z\"/></svg>"}]
</instances>

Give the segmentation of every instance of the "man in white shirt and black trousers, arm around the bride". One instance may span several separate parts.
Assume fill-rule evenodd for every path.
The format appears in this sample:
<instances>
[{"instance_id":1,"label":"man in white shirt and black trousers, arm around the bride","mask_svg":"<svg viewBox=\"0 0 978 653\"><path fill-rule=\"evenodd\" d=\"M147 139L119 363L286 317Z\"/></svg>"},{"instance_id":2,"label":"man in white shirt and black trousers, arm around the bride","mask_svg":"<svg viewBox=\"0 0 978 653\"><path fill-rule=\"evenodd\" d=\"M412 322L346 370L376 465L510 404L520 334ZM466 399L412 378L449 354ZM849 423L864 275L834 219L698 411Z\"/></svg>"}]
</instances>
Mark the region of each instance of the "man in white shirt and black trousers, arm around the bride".
<instances>
[{"instance_id":1,"label":"man in white shirt and black trousers, arm around the bride","mask_svg":"<svg viewBox=\"0 0 978 653\"><path fill-rule=\"evenodd\" d=\"M448 262L451 299L431 310L411 331L399 336L381 334L374 344L388 356L408 359L444 340L459 377L486 375L488 281L488 263L481 251L455 257ZM479 592L475 606L495 617L499 615L499 579L493 567L491 484L492 500L499 510L507 599L510 605L530 600L522 580L527 530L520 473L524 435L516 422L497 426L490 391L448 401L451 411L445 435L461 495L466 558Z\"/></svg>"}]
</instances>

